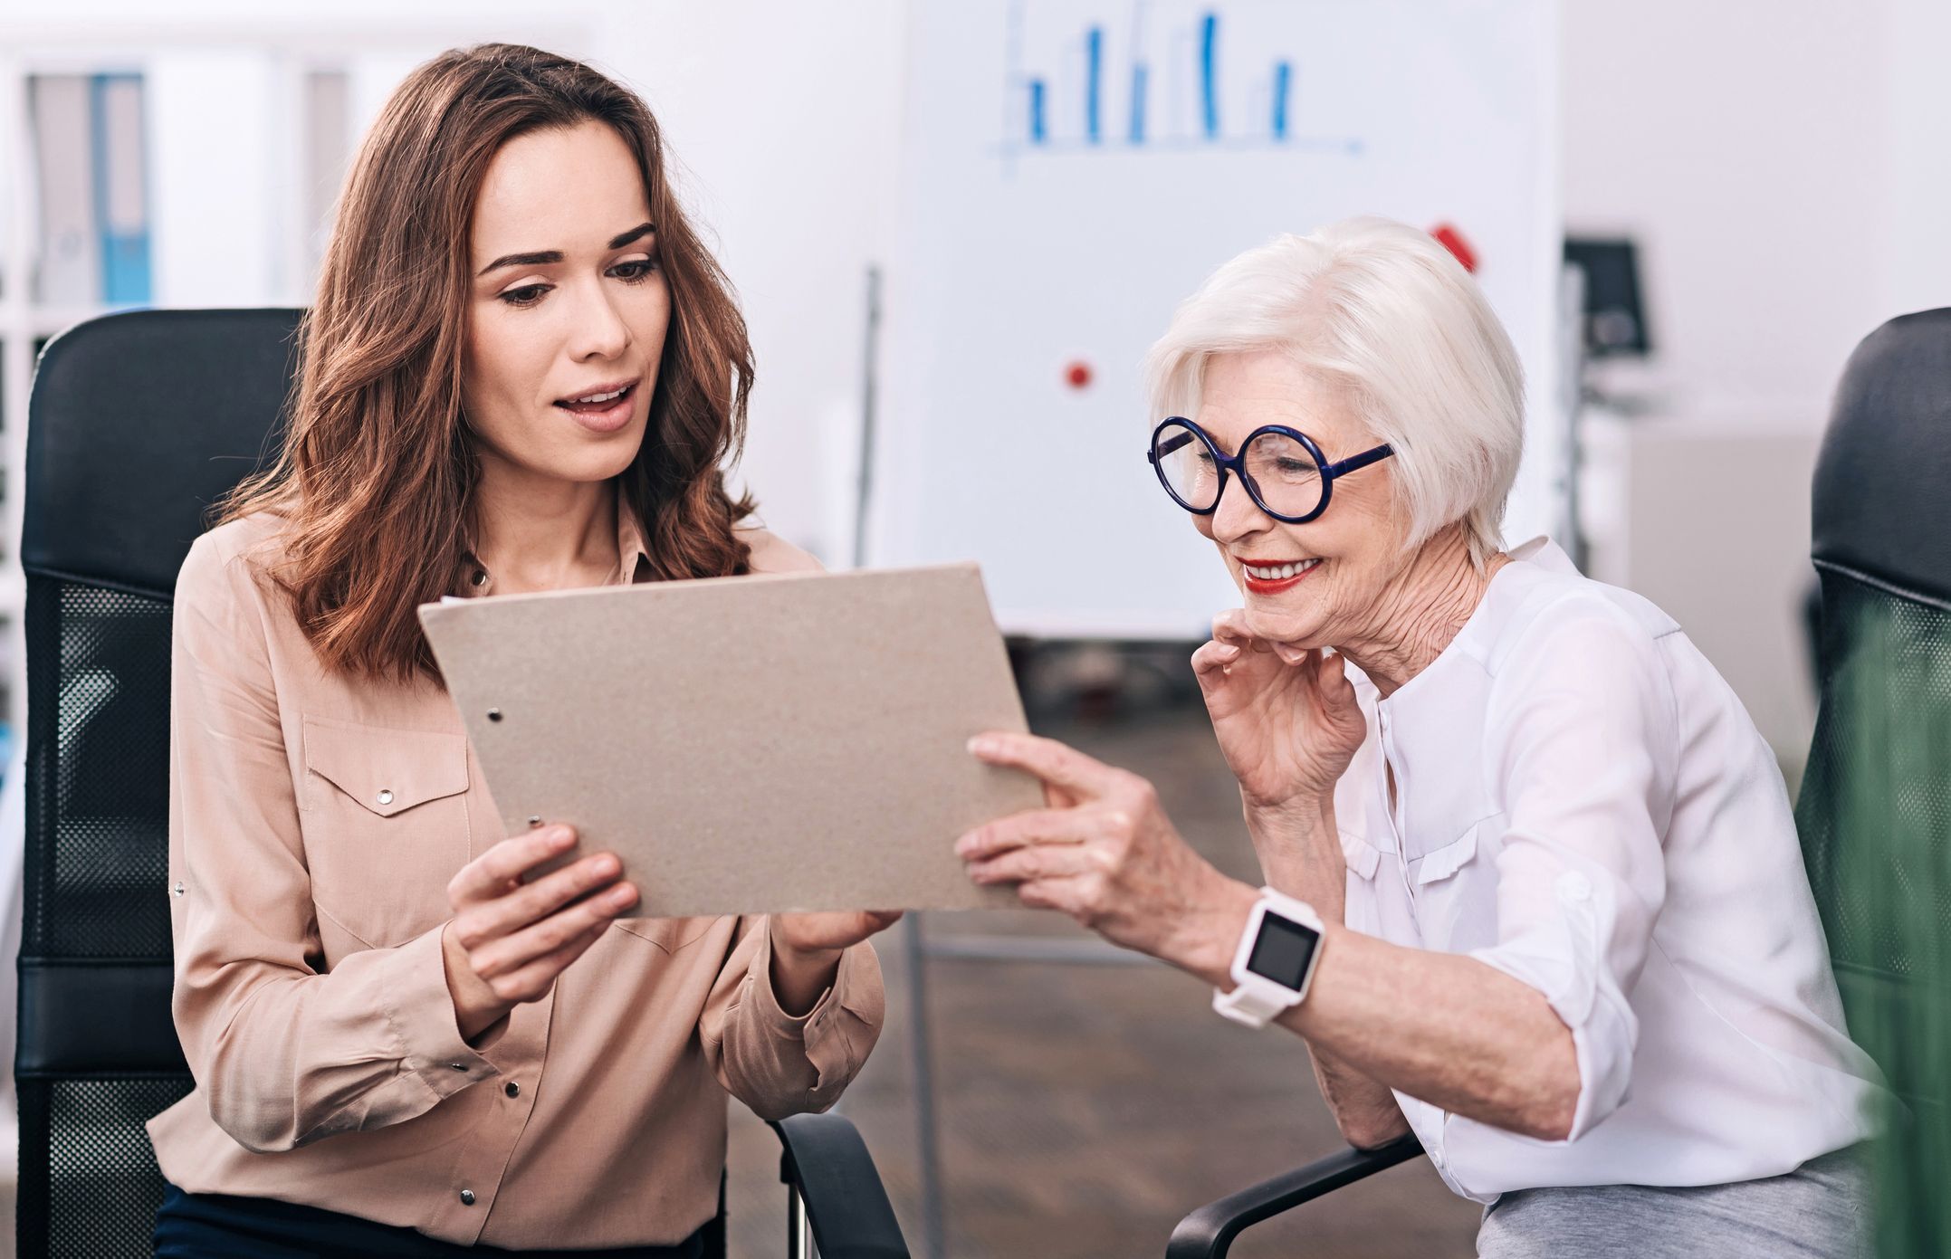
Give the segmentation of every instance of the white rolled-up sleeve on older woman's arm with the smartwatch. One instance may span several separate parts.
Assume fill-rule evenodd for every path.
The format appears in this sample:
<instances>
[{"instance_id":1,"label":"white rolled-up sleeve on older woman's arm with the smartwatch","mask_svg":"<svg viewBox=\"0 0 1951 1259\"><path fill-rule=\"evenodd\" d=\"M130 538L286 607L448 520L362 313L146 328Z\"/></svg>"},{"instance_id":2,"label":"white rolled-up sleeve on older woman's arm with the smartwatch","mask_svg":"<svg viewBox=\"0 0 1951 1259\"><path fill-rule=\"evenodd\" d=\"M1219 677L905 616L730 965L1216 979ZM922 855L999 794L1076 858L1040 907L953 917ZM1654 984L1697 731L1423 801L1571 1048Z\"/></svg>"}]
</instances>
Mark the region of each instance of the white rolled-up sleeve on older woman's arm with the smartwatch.
<instances>
[{"instance_id":1,"label":"white rolled-up sleeve on older woman's arm with the smartwatch","mask_svg":"<svg viewBox=\"0 0 1951 1259\"><path fill-rule=\"evenodd\" d=\"M1520 640L1498 671L1489 769L1508 830L1496 945L1471 956L1535 988L1573 1033L1578 1140L1627 1095L1639 982L1666 894L1678 712L1658 640L1610 603Z\"/></svg>"}]
</instances>

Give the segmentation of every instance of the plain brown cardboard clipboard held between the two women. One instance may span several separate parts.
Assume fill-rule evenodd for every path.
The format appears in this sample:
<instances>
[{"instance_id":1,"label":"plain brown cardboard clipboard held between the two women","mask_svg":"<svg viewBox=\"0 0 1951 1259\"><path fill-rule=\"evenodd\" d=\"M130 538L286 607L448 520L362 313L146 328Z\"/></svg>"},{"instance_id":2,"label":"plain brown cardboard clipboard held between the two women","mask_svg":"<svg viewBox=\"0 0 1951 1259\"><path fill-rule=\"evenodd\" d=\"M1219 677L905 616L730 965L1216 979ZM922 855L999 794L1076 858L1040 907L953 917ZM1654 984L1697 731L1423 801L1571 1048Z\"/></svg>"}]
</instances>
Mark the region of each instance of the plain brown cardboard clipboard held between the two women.
<instances>
[{"instance_id":1,"label":"plain brown cardboard clipboard held between the two women","mask_svg":"<svg viewBox=\"0 0 1951 1259\"><path fill-rule=\"evenodd\" d=\"M1024 730L976 564L427 603L505 833L615 851L636 915L970 910L954 839L1040 808L966 750Z\"/></svg>"}]
</instances>

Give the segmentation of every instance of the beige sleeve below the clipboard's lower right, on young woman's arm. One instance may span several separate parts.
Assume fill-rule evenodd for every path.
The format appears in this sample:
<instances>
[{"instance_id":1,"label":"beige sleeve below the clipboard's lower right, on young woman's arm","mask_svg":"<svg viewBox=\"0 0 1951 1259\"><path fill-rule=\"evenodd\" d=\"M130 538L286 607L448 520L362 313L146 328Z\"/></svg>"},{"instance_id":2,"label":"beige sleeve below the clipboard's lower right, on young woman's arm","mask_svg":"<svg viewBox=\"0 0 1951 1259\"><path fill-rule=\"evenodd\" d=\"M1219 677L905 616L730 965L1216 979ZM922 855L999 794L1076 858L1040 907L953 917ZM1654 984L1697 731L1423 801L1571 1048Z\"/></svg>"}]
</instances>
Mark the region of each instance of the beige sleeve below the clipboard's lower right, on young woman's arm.
<instances>
[{"instance_id":1,"label":"beige sleeve below the clipboard's lower right, on young woman's arm","mask_svg":"<svg viewBox=\"0 0 1951 1259\"><path fill-rule=\"evenodd\" d=\"M825 1111L880 1038L886 994L866 941L841 953L833 984L804 1015L773 992L773 941L763 915L739 921L704 1005L700 1036L718 1081L761 1118Z\"/></svg>"}]
</instances>

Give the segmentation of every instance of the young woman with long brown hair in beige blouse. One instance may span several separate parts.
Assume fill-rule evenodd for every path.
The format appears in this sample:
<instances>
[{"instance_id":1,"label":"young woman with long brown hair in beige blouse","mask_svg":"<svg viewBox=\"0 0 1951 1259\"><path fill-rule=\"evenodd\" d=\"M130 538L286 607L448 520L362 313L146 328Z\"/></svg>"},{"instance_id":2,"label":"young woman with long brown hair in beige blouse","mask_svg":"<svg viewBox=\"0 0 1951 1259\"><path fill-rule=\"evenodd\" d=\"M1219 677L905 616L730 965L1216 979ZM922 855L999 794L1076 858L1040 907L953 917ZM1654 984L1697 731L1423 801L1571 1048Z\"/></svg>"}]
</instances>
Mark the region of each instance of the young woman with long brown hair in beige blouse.
<instances>
[{"instance_id":1,"label":"young woman with long brown hair in beige blouse","mask_svg":"<svg viewBox=\"0 0 1951 1259\"><path fill-rule=\"evenodd\" d=\"M302 353L281 459L178 580L197 1087L150 1122L156 1253L697 1255L726 1095L833 1103L896 915L620 917L638 890L607 853L521 882L574 835L501 837L416 621L814 566L726 494L751 353L650 111L535 49L419 66L359 154Z\"/></svg>"}]
</instances>

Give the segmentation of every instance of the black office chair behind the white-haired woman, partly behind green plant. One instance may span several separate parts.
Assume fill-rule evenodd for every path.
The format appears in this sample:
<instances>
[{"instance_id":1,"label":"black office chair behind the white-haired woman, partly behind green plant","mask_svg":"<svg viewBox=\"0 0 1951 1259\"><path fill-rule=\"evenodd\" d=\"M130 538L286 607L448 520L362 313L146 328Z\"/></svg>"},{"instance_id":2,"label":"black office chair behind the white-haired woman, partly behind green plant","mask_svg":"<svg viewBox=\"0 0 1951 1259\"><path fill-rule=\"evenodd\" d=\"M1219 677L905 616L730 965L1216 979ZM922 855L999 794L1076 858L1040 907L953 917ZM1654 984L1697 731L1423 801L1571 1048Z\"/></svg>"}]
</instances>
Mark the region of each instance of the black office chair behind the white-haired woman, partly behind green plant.
<instances>
[{"instance_id":1,"label":"black office chair behind the white-haired woman, partly behind green plant","mask_svg":"<svg viewBox=\"0 0 1951 1259\"><path fill-rule=\"evenodd\" d=\"M1850 1033L1908 1115L1883 1255L1951 1253L1951 308L1850 357L1814 476L1816 716L1795 822Z\"/></svg>"}]
</instances>

